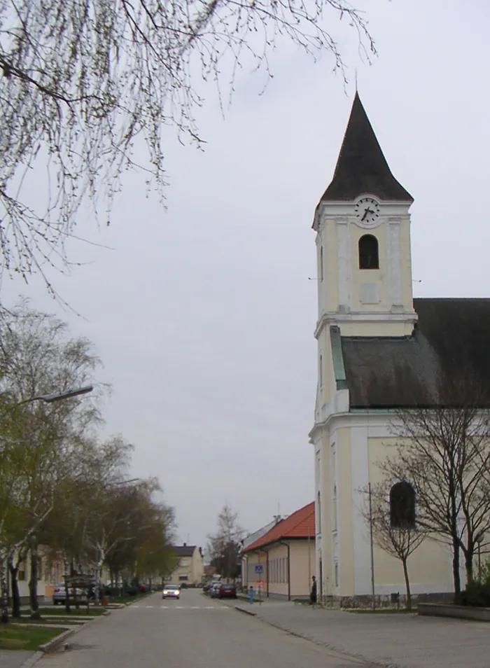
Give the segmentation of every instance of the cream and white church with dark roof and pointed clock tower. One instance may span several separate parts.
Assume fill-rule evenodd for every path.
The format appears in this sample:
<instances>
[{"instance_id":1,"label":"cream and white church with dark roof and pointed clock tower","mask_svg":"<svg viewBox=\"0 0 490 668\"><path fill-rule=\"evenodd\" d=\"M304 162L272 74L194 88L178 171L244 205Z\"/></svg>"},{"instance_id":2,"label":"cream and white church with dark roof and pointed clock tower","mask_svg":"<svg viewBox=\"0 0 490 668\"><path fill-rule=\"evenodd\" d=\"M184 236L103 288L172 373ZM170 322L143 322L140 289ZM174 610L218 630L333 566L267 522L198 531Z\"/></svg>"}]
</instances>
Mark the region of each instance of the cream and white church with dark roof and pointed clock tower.
<instances>
[{"instance_id":1,"label":"cream and white church with dark roof and pointed clock tower","mask_svg":"<svg viewBox=\"0 0 490 668\"><path fill-rule=\"evenodd\" d=\"M344 603L371 597L373 585L381 598L405 592L400 561L376 546L371 552L360 511L360 490L381 480L377 461L395 445L396 410L437 405L437 375L455 365L490 379L490 300L412 296L413 201L388 167L356 92L313 222L316 573L319 594ZM453 591L445 545L424 541L409 571L416 596Z\"/></svg>"}]
</instances>

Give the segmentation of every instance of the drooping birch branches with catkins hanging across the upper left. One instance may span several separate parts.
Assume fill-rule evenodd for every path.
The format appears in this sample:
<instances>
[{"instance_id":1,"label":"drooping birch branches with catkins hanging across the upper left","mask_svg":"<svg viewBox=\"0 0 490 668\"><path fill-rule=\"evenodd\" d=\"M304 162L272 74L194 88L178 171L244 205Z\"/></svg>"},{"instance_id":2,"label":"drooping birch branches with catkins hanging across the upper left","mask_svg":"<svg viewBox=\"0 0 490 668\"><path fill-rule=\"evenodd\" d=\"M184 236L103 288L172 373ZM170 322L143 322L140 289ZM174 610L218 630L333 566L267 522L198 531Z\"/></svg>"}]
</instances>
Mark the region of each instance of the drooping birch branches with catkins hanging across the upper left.
<instances>
[{"instance_id":1,"label":"drooping birch branches with catkins hanging across the upper left","mask_svg":"<svg viewBox=\"0 0 490 668\"><path fill-rule=\"evenodd\" d=\"M27 278L34 271L45 276L45 263L64 262L80 205L91 202L95 215L110 210L130 167L140 167L161 194L162 127L171 126L181 141L203 144L195 123L204 102L200 79L215 81L221 96L223 76L230 77L231 91L246 65L272 76L269 56L282 39L313 57L329 52L345 78L330 32L334 18L356 32L369 60L375 49L367 23L346 0L2 3L3 267ZM142 165L134 158L139 138L146 147ZM38 204L26 193L30 179L39 183L43 173L46 200Z\"/></svg>"}]
</instances>

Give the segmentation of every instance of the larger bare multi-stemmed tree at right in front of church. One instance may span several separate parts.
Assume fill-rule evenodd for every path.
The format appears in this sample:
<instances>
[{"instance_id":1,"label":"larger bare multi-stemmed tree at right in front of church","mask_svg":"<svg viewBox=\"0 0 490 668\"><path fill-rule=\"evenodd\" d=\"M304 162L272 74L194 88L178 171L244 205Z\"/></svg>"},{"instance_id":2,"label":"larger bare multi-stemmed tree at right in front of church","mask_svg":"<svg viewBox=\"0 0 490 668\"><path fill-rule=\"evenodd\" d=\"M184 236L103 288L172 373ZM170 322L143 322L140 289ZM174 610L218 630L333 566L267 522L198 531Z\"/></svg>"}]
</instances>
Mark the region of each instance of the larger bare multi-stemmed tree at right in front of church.
<instances>
[{"instance_id":1,"label":"larger bare multi-stemmed tree at right in front of church","mask_svg":"<svg viewBox=\"0 0 490 668\"><path fill-rule=\"evenodd\" d=\"M437 386L435 405L398 411L393 429L402 440L380 466L388 478L409 480L419 526L451 545L457 598L460 550L470 583L475 549L490 531L490 402L470 373L441 375Z\"/></svg>"}]
</instances>

